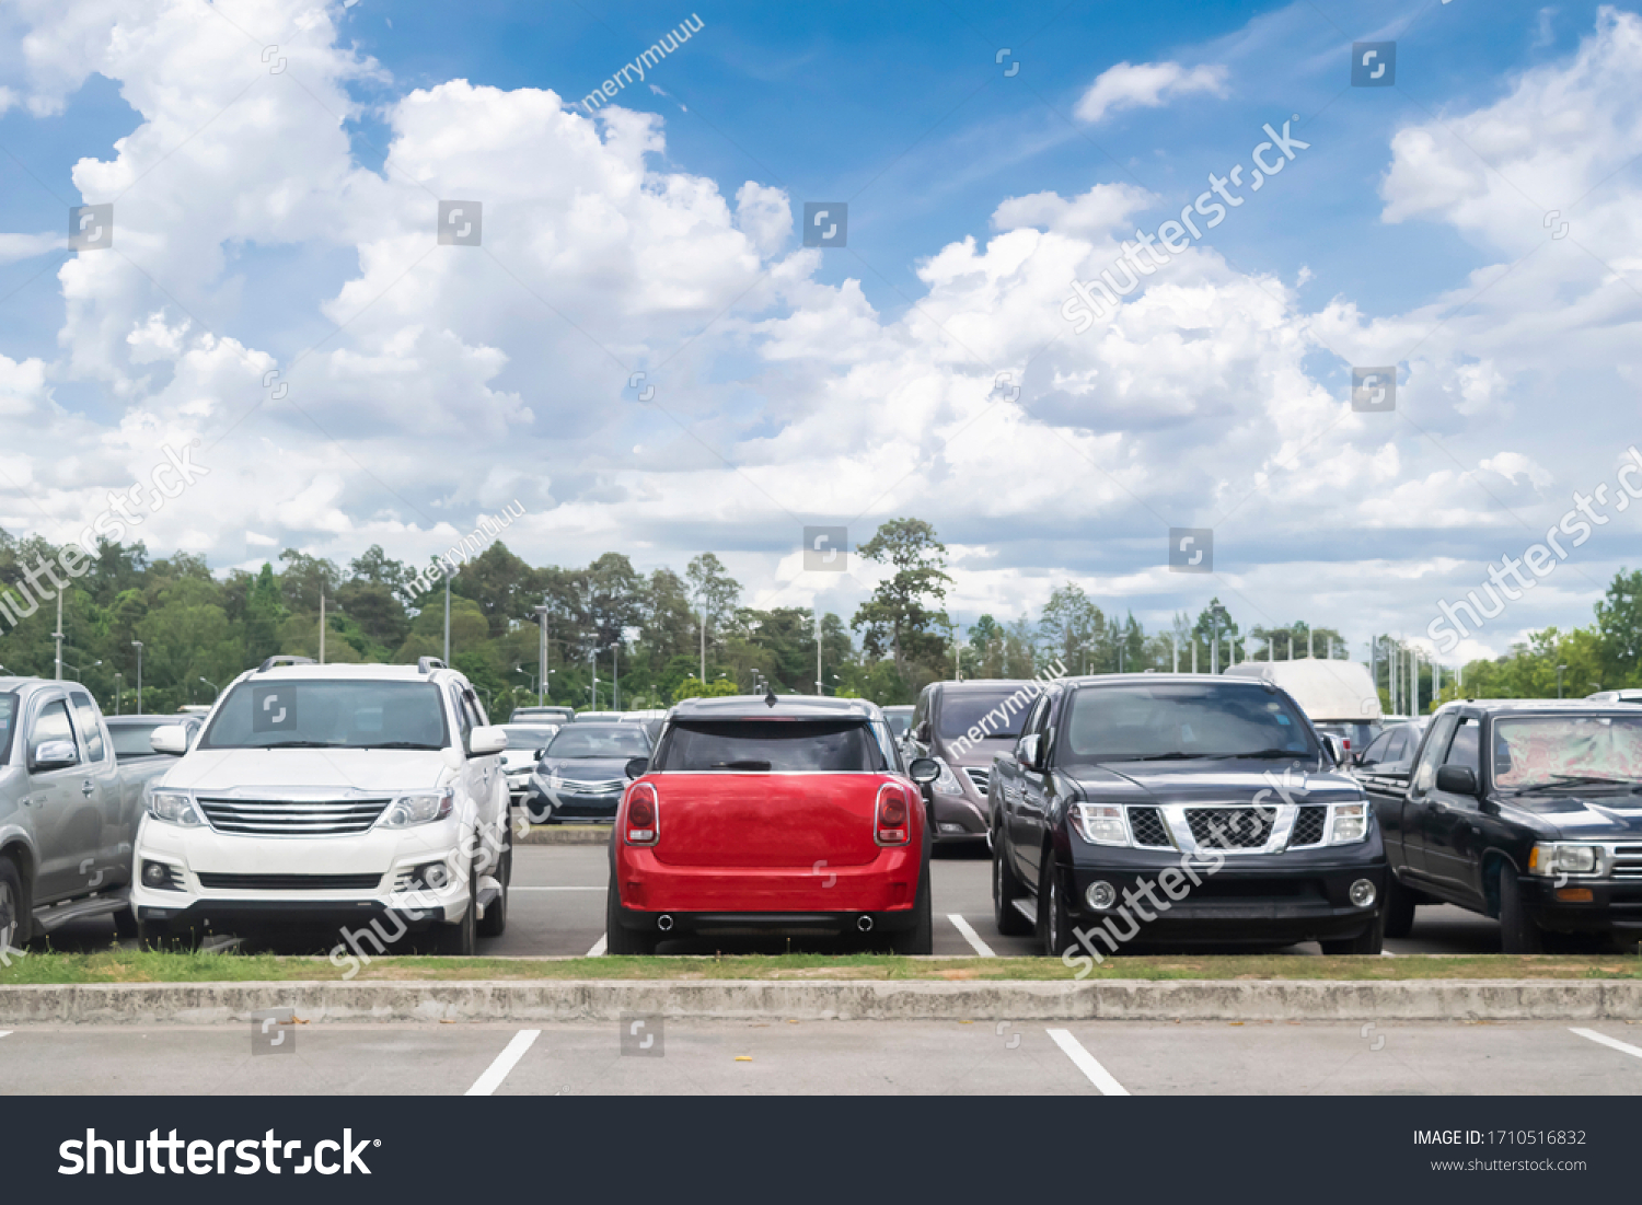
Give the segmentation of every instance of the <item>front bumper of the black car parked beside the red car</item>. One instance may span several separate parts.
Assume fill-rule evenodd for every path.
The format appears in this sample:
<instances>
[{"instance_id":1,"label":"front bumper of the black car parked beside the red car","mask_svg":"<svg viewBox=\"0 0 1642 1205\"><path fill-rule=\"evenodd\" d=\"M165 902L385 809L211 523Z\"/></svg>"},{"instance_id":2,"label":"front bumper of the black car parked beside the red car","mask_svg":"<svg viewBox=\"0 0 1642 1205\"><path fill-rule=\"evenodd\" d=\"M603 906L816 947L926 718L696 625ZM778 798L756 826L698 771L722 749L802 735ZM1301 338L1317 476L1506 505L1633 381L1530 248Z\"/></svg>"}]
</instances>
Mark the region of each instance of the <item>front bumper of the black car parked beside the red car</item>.
<instances>
[{"instance_id":1,"label":"front bumper of the black car parked beside the red car","mask_svg":"<svg viewBox=\"0 0 1642 1205\"><path fill-rule=\"evenodd\" d=\"M1218 860L1218 867L1215 862ZM1174 867L1166 891L1159 873ZM1080 845L1071 864L1057 859L1056 873L1072 923L1102 954L1107 931L1120 944L1171 946L1291 946L1300 941L1343 941L1361 936L1384 905L1387 864L1379 834L1355 845L1323 845L1284 854L1182 855L1171 850ZM1195 875L1195 883L1192 882ZM1351 885L1374 885L1368 906L1351 903ZM1117 891L1112 908L1092 908L1087 891L1107 882ZM1151 898L1141 891L1151 883ZM1039 901L1043 895L1039 895ZM1131 932L1133 931L1133 932Z\"/></svg>"}]
</instances>

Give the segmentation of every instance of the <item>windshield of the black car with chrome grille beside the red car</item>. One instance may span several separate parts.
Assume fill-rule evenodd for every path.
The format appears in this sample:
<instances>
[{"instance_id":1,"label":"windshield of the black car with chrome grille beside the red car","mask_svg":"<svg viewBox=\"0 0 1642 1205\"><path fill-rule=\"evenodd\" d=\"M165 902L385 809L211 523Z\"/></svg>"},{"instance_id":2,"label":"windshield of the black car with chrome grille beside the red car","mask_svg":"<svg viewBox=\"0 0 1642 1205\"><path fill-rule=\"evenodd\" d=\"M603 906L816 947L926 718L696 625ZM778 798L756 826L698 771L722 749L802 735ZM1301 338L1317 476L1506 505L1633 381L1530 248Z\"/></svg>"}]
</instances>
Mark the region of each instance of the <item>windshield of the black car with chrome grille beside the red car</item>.
<instances>
[{"instance_id":1,"label":"windshield of the black car with chrome grille beside the red car","mask_svg":"<svg viewBox=\"0 0 1642 1205\"><path fill-rule=\"evenodd\" d=\"M1218 683L1085 686L1072 694L1064 729L1061 762L1319 754L1286 698Z\"/></svg>"}]
</instances>

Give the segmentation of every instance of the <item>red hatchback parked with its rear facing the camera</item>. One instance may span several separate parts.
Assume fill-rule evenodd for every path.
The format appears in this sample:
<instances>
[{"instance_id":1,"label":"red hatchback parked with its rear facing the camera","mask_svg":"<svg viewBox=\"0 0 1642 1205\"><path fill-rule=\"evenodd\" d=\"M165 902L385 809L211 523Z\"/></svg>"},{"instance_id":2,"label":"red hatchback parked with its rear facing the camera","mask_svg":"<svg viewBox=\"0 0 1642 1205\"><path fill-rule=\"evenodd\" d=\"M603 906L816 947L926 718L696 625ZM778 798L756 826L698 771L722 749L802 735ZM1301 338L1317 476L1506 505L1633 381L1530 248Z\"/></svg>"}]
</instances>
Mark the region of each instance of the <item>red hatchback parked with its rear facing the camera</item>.
<instances>
[{"instance_id":1,"label":"red hatchback parked with its rear facing the camera","mask_svg":"<svg viewBox=\"0 0 1642 1205\"><path fill-rule=\"evenodd\" d=\"M629 763L611 837L611 954L668 937L870 934L931 952L929 826L864 699L688 699ZM882 942L878 939L883 939Z\"/></svg>"}]
</instances>

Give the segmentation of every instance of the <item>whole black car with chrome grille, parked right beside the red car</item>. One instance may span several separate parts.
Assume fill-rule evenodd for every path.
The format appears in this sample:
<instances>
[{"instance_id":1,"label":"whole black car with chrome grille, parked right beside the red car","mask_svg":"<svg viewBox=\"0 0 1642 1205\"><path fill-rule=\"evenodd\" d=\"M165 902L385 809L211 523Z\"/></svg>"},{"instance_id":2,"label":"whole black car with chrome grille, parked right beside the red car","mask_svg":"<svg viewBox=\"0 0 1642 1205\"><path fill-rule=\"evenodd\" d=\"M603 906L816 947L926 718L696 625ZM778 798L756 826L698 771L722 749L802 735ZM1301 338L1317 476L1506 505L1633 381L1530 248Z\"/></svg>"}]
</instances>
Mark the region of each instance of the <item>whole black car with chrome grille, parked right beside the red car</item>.
<instances>
[{"instance_id":1,"label":"whole black car with chrome grille, parked right beside the red car","mask_svg":"<svg viewBox=\"0 0 1642 1205\"><path fill-rule=\"evenodd\" d=\"M1126 942L1379 954L1386 854L1342 757L1271 683L1056 681L993 763L998 929L1067 967Z\"/></svg>"}]
</instances>

